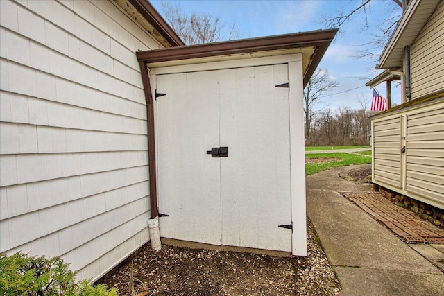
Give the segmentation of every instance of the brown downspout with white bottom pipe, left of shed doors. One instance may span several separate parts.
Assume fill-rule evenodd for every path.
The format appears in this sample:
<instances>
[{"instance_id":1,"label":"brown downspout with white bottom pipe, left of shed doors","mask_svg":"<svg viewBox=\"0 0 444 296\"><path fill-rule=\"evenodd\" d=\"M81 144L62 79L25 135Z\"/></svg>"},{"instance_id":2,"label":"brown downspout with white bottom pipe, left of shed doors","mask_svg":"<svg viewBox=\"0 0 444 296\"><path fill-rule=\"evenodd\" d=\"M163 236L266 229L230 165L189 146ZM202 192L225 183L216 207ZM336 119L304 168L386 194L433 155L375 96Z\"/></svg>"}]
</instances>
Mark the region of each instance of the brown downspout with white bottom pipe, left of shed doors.
<instances>
[{"instance_id":1,"label":"brown downspout with white bottom pipe, left of shed doors","mask_svg":"<svg viewBox=\"0 0 444 296\"><path fill-rule=\"evenodd\" d=\"M146 125L147 125L147 141L148 141L148 174L150 186L150 212L148 218L148 229L150 234L151 248L160 250L162 244L160 242L159 217L157 213L157 175L155 166L155 129L154 129L154 106L153 94L151 93L151 84L148 74L146 62L139 60L140 71L142 73L142 82L144 85L145 101L146 101Z\"/></svg>"}]
</instances>

